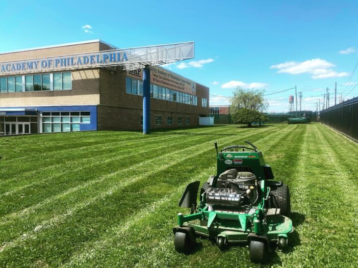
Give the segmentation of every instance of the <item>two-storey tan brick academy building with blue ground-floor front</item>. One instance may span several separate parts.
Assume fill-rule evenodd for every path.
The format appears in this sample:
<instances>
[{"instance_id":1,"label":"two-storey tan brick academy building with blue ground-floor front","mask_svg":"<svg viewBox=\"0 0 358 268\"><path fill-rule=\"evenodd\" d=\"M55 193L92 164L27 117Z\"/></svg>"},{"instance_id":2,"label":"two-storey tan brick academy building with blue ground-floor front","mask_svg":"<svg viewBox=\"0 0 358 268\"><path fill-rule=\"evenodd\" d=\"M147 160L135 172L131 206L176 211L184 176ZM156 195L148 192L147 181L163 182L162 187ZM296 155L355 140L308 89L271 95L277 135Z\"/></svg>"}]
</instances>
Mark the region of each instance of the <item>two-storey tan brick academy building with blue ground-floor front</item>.
<instances>
[{"instance_id":1,"label":"two-storey tan brick academy building with blue ground-floor front","mask_svg":"<svg viewBox=\"0 0 358 268\"><path fill-rule=\"evenodd\" d=\"M10 61L111 49L115 47L92 40L2 53L0 71L17 68L6 64ZM22 66L24 70L30 67ZM56 72L23 71L16 75L0 72L0 135L140 130L142 78L141 69L64 67ZM208 87L161 67L151 67L150 82L151 128L197 126L199 117L209 114Z\"/></svg>"}]
</instances>

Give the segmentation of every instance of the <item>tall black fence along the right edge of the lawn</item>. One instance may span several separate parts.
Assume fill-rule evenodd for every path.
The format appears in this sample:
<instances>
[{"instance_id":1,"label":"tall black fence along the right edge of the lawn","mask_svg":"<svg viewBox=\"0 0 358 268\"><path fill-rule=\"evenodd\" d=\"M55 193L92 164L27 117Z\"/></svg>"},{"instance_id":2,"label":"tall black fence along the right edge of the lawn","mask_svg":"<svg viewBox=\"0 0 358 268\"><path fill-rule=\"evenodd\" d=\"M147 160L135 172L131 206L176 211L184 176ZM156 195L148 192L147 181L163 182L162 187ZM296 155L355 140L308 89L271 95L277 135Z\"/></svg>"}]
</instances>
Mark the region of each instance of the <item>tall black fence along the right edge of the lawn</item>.
<instances>
[{"instance_id":1,"label":"tall black fence along the right edge of the lawn","mask_svg":"<svg viewBox=\"0 0 358 268\"><path fill-rule=\"evenodd\" d=\"M322 110L320 121L358 142L358 97Z\"/></svg>"}]
</instances>

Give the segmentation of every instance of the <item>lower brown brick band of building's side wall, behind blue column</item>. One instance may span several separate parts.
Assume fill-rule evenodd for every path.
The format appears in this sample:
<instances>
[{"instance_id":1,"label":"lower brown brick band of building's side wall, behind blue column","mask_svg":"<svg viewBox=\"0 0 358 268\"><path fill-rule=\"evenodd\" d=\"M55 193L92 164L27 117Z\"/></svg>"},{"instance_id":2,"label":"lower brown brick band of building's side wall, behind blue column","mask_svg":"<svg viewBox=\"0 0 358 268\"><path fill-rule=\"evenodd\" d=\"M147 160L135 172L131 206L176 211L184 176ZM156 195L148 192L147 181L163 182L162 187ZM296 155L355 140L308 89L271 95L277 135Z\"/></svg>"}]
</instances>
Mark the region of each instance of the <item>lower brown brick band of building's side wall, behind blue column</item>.
<instances>
[{"instance_id":1,"label":"lower brown brick band of building's side wall, behind blue column","mask_svg":"<svg viewBox=\"0 0 358 268\"><path fill-rule=\"evenodd\" d=\"M108 105L97 106L97 128L98 130L141 130L141 109L120 108ZM156 116L162 117L162 124L156 125ZM172 117L172 124L167 124L167 117ZM182 117L182 124L177 124L177 117ZM185 123L185 118L190 118L190 124ZM177 128L197 126L199 115L177 112L151 111L150 128Z\"/></svg>"}]
</instances>

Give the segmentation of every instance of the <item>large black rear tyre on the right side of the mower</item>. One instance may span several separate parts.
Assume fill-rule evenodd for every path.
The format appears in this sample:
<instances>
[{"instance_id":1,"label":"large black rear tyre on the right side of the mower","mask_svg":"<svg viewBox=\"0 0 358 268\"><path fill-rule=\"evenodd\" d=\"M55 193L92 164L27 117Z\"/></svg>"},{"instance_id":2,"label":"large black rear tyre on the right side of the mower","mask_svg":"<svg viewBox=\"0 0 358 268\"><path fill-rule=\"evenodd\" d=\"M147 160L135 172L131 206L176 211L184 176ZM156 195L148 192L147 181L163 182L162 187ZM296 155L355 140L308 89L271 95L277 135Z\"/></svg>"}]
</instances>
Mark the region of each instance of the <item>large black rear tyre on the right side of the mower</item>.
<instances>
[{"instance_id":1,"label":"large black rear tyre on the right side of the mower","mask_svg":"<svg viewBox=\"0 0 358 268\"><path fill-rule=\"evenodd\" d=\"M276 187L271 186L270 208L279 208L281 214L289 216L291 213L290 189L286 184Z\"/></svg>"}]
</instances>

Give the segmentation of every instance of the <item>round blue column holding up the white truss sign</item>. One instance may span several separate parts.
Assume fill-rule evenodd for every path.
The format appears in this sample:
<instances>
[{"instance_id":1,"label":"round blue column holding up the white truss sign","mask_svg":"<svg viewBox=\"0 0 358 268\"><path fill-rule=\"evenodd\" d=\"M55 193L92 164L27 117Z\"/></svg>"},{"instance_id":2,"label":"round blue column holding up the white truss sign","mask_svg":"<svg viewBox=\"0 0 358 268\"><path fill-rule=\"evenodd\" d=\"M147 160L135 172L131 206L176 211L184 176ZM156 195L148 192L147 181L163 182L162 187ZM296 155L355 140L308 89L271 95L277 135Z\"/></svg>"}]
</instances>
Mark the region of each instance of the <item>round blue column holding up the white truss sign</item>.
<instances>
[{"instance_id":1,"label":"round blue column holding up the white truss sign","mask_svg":"<svg viewBox=\"0 0 358 268\"><path fill-rule=\"evenodd\" d=\"M143 134L150 133L150 66L143 69Z\"/></svg>"}]
</instances>

